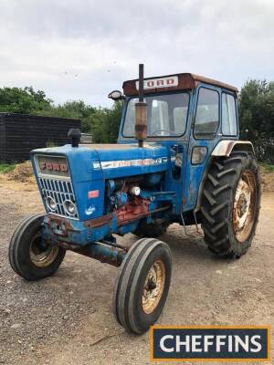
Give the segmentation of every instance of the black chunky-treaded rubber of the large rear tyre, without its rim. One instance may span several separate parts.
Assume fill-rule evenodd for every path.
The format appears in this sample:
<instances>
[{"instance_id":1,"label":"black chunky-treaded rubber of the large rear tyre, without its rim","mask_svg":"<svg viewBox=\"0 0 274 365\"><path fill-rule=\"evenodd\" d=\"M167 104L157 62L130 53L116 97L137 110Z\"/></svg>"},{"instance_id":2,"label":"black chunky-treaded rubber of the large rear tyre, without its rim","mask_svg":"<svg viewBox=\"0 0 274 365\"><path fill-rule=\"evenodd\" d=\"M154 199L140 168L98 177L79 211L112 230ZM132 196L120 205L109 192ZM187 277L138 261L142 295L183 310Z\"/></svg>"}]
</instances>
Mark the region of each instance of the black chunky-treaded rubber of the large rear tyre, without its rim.
<instances>
[{"instance_id":1,"label":"black chunky-treaded rubber of the large rear tyre, without its rim","mask_svg":"<svg viewBox=\"0 0 274 365\"><path fill-rule=\"evenodd\" d=\"M248 239L240 244L233 231L234 196L242 172L248 169L256 178L256 213ZM204 240L211 252L218 256L239 257L248 251L258 224L260 194L258 164L251 153L233 152L211 164L200 208Z\"/></svg>"}]
</instances>

